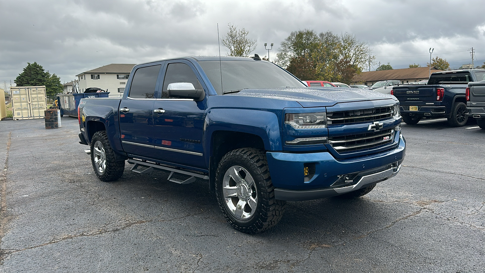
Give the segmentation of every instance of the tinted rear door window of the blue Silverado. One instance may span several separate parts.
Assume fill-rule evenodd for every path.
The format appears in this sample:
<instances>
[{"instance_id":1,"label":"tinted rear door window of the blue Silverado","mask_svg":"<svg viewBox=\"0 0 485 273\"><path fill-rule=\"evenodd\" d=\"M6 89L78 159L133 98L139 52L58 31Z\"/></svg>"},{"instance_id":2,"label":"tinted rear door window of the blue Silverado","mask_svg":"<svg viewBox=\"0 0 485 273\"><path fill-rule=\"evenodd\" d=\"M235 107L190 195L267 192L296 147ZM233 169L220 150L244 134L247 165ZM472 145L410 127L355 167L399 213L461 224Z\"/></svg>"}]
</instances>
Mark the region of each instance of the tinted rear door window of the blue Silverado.
<instances>
[{"instance_id":1,"label":"tinted rear door window of the blue Silverado","mask_svg":"<svg viewBox=\"0 0 485 273\"><path fill-rule=\"evenodd\" d=\"M136 69L128 96L133 99L153 99L160 67L161 65Z\"/></svg>"}]
</instances>

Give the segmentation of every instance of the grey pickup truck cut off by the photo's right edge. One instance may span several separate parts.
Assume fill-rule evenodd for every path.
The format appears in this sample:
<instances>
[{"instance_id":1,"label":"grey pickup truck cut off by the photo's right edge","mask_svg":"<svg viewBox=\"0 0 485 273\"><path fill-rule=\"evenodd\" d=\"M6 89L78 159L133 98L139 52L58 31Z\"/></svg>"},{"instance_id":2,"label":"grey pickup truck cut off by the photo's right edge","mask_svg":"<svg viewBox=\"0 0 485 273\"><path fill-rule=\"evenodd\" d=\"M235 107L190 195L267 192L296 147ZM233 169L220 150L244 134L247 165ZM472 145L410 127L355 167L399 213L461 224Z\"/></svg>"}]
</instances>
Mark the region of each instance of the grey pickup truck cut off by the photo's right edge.
<instances>
[{"instance_id":1,"label":"grey pickup truck cut off by the photo's right edge","mask_svg":"<svg viewBox=\"0 0 485 273\"><path fill-rule=\"evenodd\" d=\"M485 79L485 71L477 71L475 75L477 75L477 80ZM477 120L480 128L485 129L485 80L468 83L466 96L470 117Z\"/></svg>"}]
</instances>

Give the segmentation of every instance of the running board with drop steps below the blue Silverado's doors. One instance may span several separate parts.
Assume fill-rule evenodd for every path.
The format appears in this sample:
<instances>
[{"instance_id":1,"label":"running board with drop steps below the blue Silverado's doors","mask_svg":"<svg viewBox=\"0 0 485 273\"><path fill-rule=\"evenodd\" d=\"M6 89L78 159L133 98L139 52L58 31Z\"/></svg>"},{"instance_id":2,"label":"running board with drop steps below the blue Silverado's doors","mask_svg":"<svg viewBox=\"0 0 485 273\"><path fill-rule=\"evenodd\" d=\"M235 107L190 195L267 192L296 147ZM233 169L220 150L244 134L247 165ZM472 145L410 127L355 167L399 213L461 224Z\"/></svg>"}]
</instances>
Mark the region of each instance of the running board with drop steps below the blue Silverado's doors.
<instances>
[{"instance_id":1,"label":"running board with drop steps below the blue Silverado's doors","mask_svg":"<svg viewBox=\"0 0 485 273\"><path fill-rule=\"evenodd\" d=\"M178 170L178 169L175 169L175 168L162 166L162 165L159 165L159 164L156 164L156 163L148 163L146 161L142 161L142 160L138 160L138 159L129 158L128 163L134 164L133 167L131 168L131 171L134 171L134 172L137 172L137 173L148 173L148 172L153 171L154 169L158 169L158 170L162 170L162 171L170 171L170 175L167 178L168 181L175 182L175 183L178 183L178 184L192 183L192 182L195 181L195 177L202 178L202 179L205 179L205 180L209 180L209 176L207 176L205 174L194 173L194 172L190 172L190 171L182 171L182 170ZM140 167L146 168L146 169L141 170ZM188 175L189 178L187 178L185 180L174 178L173 175L175 173Z\"/></svg>"}]
</instances>

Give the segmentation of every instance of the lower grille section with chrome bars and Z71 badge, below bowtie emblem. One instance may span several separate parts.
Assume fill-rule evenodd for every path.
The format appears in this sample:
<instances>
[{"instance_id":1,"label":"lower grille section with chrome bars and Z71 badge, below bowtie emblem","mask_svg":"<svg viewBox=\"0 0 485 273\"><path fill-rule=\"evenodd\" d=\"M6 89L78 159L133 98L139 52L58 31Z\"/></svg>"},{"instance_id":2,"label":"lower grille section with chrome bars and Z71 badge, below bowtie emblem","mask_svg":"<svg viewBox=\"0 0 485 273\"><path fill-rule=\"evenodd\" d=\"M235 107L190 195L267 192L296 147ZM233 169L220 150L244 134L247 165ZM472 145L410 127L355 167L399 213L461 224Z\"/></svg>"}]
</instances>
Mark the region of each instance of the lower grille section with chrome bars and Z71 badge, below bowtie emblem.
<instances>
[{"instance_id":1,"label":"lower grille section with chrome bars and Z71 badge, below bowtie emblem","mask_svg":"<svg viewBox=\"0 0 485 273\"><path fill-rule=\"evenodd\" d=\"M346 153L364 149L370 149L381 145L392 143L394 140L394 129L387 129L378 132L369 132L357 135L330 136L328 143L339 153Z\"/></svg>"}]
</instances>

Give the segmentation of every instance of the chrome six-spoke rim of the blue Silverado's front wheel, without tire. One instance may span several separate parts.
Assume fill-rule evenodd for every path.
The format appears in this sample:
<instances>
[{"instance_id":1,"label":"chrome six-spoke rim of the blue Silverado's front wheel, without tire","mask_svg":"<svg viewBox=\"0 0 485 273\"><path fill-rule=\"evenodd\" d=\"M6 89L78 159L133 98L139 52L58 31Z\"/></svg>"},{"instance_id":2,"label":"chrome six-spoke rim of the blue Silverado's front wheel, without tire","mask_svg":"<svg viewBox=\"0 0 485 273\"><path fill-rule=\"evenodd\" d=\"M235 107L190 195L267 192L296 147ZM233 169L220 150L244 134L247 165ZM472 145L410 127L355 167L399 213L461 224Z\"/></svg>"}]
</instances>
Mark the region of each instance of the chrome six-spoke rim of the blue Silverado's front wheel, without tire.
<instances>
[{"instance_id":1,"label":"chrome six-spoke rim of the blue Silverado's front wheel, without tire","mask_svg":"<svg viewBox=\"0 0 485 273\"><path fill-rule=\"evenodd\" d=\"M251 218L258 205L258 192L251 174L241 166L231 166L224 174L222 192L231 214L240 220Z\"/></svg>"}]
</instances>

